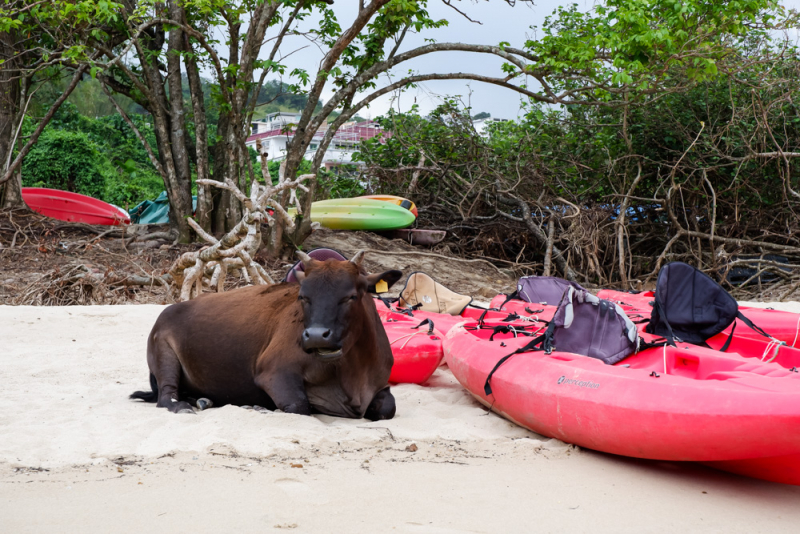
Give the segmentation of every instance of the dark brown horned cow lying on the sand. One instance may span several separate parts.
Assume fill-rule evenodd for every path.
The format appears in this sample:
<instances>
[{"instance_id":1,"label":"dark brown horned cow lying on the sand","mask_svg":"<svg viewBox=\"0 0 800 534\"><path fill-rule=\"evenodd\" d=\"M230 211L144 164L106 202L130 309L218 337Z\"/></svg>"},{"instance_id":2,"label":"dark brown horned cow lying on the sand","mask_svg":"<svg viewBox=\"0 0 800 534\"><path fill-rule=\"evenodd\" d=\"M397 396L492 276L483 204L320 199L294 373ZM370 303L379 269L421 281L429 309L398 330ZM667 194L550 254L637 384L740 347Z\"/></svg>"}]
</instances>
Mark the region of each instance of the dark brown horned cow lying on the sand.
<instances>
[{"instance_id":1,"label":"dark brown horned cow lying on the sand","mask_svg":"<svg viewBox=\"0 0 800 534\"><path fill-rule=\"evenodd\" d=\"M394 360L368 291L402 273L368 275L363 251L350 261L298 256L299 284L212 293L164 310L147 342L153 391L130 397L176 413L193 411L186 399L204 397L289 413L394 417Z\"/></svg>"}]
</instances>

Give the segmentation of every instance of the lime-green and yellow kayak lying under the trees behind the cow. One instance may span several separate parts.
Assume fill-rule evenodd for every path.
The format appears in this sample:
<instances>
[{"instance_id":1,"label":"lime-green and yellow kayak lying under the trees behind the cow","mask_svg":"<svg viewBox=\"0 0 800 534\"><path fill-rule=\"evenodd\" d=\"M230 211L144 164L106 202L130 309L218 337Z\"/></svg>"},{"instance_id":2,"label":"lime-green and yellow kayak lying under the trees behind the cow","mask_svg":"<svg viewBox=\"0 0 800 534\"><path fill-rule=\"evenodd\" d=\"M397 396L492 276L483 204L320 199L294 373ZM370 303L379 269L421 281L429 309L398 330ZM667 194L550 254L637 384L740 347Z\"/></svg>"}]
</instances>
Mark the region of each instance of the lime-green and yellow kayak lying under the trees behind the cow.
<instances>
[{"instance_id":1,"label":"lime-green and yellow kayak lying under the trees behind the cow","mask_svg":"<svg viewBox=\"0 0 800 534\"><path fill-rule=\"evenodd\" d=\"M397 230L415 219L406 208L382 200L333 198L311 204L311 220L332 230Z\"/></svg>"}]
</instances>

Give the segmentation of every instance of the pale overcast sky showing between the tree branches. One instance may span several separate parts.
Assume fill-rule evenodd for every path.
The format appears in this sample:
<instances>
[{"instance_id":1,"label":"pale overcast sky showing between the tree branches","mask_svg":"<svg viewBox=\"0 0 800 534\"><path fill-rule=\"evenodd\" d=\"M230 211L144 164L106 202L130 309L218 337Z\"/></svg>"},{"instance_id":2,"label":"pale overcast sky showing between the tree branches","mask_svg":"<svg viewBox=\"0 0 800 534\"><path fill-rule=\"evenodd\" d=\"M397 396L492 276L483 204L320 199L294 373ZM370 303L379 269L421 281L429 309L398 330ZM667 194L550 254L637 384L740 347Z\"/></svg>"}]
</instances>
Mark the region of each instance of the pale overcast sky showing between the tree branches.
<instances>
[{"instance_id":1,"label":"pale overcast sky showing between the tree branches","mask_svg":"<svg viewBox=\"0 0 800 534\"><path fill-rule=\"evenodd\" d=\"M724 0L723 0L724 1ZM515 7L510 7L503 0L458 0L453 2L459 9L466 12L470 18L478 20L481 24L469 22L453 9L447 7L439 0L429 2L429 13L434 19L447 19L450 24L444 28L428 30L423 34L407 36L402 50L408 50L425 44L424 39L432 38L437 42L461 42L471 44L496 45L501 41L511 43L511 46L522 48L525 40L535 37L534 26L541 27L546 16L553 13L559 5L577 4L581 10L590 9L593 0L577 0L563 2L557 0L538 0L535 6L518 2ZM800 0L786 0L783 5L787 8L800 8ZM336 0L333 9L343 27L351 21L357 12L356 0ZM303 26L309 27L315 20L309 18ZM299 38L287 42L292 48L302 46ZM288 49L288 47L286 48ZM266 50L266 47L265 47ZM286 58L284 63L289 66L289 71L294 67L302 67L310 72L316 72L322 52L312 46L307 46ZM472 72L489 76L501 76L500 66L502 60L488 54L469 54L463 52L442 52L429 54L403 64L404 67L396 68L398 74L414 69L419 73L428 72ZM288 81L288 80L287 80ZM327 99L331 92L323 93ZM420 84L416 89L407 90L402 95L384 96L372 103L370 108L360 114L372 118L386 113L389 106L395 109L407 110L416 103L423 112L428 112L439 103L445 95L460 95L465 102L472 106L473 114L487 111L493 117L511 119L517 117L520 108L520 96L502 87L480 83L462 82L457 80L431 81Z\"/></svg>"}]
</instances>

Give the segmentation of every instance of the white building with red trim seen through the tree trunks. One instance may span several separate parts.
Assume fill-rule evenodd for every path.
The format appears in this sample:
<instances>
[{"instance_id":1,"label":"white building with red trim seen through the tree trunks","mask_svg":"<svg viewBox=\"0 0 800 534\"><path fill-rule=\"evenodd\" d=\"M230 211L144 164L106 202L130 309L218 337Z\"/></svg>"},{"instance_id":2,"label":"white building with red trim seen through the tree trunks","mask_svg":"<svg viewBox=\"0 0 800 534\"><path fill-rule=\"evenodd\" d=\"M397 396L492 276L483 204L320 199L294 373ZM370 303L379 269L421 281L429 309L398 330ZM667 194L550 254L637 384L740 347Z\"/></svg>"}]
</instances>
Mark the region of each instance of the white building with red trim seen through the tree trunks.
<instances>
[{"instance_id":1,"label":"white building with red trim seen through the tree trunks","mask_svg":"<svg viewBox=\"0 0 800 534\"><path fill-rule=\"evenodd\" d=\"M245 144L255 148L256 141L261 139L263 150L267 152L267 159L281 161L286 157L287 143L294 136L293 125L299 120L299 113L270 113L264 119L251 123L252 134L247 138ZM326 131L327 124L314 133L314 138L303 156L305 159L314 158ZM334 134L333 140L325 152L323 166L331 169L338 165L353 164L352 155L357 150L358 143L382 134L385 132L374 121L343 124Z\"/></svg>"}]
</instances>

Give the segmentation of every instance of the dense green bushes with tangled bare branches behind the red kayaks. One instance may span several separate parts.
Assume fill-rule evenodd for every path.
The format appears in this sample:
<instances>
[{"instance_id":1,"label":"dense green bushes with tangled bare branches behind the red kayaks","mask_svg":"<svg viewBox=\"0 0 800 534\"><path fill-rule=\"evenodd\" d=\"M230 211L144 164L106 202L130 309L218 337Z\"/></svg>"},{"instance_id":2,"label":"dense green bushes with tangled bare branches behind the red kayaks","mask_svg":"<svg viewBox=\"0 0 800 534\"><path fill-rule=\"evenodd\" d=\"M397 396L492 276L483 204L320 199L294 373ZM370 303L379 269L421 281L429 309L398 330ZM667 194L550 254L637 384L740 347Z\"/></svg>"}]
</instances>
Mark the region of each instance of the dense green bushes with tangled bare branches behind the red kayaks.
<instances>
[{"instance_id":1,"label":"dense green bushes with tangled bare branches behind the red kayaks","mask_svg":"<svg viewBox=\"0 0 800 534\"><path fill-rule=\"evenodd\" d=\"M483 136L454 100L427 116L392 112L379 119L392 136L362 142L357 158L375 192L403 195L424 153L424 166L435 170L419 175L415 202L423 213L435 207L427 213L438 227L463 225L461 243L488 256L542 261L541 243L526 241L527 227L513 221L521 211L500 198L528 204L543 229L558 214L556 245L600 284L619 280L615 223L639 176L624 246L631 276L643 279L675 235L667 209L689 231L710 234L713 225L717 236L793 242L800 230L789 188L800 189L800 161L784 160L776 147L800 146L800 112L786 97L800 92L799 60L792 46L742 47L726 61L749 62L746 71L690 83L690 73L676 70L681 90L634 92L629 107L529 104L521 120L493 123ZM674 257L703 258L706 267L722 261L712 255L718 242L670 246Z\"/></svg>"}]
</instances>

